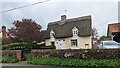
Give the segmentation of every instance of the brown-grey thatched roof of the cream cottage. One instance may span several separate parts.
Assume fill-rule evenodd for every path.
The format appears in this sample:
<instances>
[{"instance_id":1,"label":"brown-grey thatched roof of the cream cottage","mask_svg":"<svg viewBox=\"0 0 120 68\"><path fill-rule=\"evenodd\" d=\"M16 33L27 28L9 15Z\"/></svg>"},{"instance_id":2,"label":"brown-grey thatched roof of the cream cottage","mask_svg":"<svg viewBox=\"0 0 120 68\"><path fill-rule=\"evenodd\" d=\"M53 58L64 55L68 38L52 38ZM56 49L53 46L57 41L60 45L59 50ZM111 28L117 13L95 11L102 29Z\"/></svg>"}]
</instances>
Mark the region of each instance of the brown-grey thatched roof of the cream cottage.
<instances>
[{"instance_id":1,"label":"brown-grey thatched roof of the cream cottage","mask_svg":"<svg viewBox=\"0 0 120 68\"><path fill-rule=\"evenodd\" d=\"M78 29L78 36L91 35L91 16L78 17L73 19L66 19L48 24L45 38L50 38L50 31L55 32L55 38L65 38L72 36L72 29Z\"/></svg>"}]
</instances>

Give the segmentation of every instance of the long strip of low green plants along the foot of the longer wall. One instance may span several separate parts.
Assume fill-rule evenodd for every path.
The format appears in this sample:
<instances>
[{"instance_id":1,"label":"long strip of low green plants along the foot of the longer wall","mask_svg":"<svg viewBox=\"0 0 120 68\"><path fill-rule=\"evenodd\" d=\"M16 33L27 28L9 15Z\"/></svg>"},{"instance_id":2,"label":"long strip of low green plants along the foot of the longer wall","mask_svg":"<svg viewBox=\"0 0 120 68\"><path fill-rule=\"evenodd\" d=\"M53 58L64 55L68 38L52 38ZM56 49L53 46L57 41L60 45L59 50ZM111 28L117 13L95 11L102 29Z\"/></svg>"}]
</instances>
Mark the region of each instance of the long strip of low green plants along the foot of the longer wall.
<instances>
[{"instance_id":1,"label":"long strip of low green plants along the foot of the longer wall","mask_svg":"<svg viewBox=\"0 0 120 68\"><path fill-rule=\"evenodd\" d=\"M29 61L34 65L55 65L55 66L70 66L70 67L120 67L119 60L78 60L78 59L60 59L60 58L34 58Z\"/></svg>"}]
</instances>

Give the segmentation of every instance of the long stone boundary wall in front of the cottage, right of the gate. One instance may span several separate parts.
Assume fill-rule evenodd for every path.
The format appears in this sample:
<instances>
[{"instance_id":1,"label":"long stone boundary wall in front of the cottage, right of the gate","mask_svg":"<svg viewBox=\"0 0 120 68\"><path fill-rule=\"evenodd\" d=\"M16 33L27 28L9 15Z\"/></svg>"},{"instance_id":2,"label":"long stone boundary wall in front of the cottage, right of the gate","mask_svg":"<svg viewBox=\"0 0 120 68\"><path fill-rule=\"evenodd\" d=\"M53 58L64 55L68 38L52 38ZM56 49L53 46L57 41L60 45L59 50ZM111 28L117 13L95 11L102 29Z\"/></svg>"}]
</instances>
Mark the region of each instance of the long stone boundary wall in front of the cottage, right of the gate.
<instances>
[{"instance_id":1,"label":"long stone boundary wall in front of the cottage, right of the gate","mask_svg":"<svg viewBox=\"0 0 120 68\"><path fill-rule=\"evenodd\" d=\"M120 59L120 49L32 50L33 57L69 59Z\"/></svg>"}]
</instances>

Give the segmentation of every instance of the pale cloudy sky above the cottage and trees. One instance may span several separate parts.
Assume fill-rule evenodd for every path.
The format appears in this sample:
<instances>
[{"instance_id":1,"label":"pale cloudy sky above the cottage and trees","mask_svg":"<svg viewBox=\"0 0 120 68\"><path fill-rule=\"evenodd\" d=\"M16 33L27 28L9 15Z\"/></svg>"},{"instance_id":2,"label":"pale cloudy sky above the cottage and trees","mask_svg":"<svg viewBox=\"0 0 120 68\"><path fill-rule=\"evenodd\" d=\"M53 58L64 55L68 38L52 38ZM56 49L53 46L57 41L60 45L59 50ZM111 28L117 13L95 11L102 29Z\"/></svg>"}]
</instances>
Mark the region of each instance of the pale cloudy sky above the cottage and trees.
<instances>
[{"instance_id":1,"label":"pale cloudy sky above the cottage and trees","mask_svg":"<svg viewBox=\"0 0 120 68\"><path fill-rule=\"evenodd\" d=\"M0 2L0 25L8 29L13 27L14 20L33 19L45 30L49 22L60 20L61 15L67 19L92 16L92 27L98 30L98 35L107 34L107 26L118 22L119 0L49 0L37 5L2 12L45 0L2 0ZM66 11L65 11L66 10Z\"/></svg>"}]
</instances>

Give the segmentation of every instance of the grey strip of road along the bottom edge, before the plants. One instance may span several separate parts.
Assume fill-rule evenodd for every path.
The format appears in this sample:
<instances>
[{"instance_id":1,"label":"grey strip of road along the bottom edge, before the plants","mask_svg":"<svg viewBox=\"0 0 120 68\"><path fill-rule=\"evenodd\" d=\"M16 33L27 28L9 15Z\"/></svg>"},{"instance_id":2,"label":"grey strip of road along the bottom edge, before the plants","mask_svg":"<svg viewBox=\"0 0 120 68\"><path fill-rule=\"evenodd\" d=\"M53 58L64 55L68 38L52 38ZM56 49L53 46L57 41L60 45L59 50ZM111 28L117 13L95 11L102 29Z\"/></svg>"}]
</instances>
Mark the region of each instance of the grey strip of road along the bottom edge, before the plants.
<instances>
[{"instance_id":1,"label":"grey strip of road along the bottom edge, before the plants","mask_svg":"<svg viewBox=\"0 0 120 68\"><path fill-rule=\"evenodd\" d=\"M30 65L30 64L2 64L1 68L80 68L80 67L59 67L59 66Z\"/></svg>"}]
</instances>

